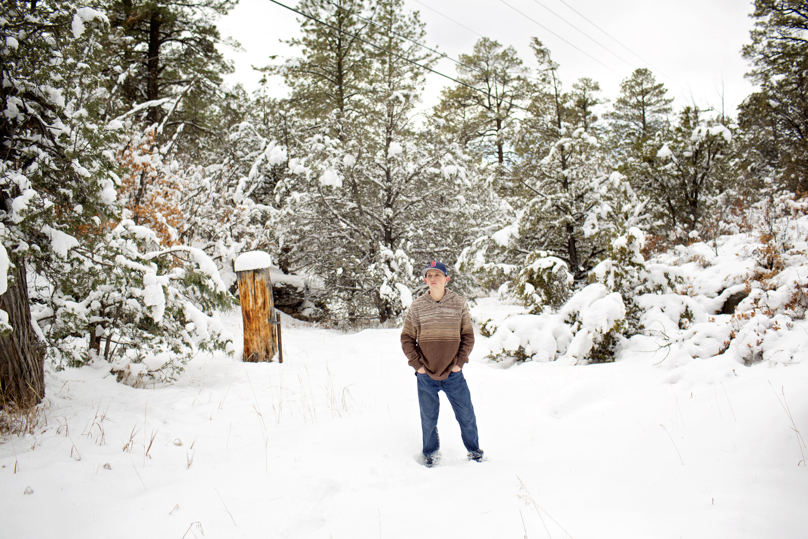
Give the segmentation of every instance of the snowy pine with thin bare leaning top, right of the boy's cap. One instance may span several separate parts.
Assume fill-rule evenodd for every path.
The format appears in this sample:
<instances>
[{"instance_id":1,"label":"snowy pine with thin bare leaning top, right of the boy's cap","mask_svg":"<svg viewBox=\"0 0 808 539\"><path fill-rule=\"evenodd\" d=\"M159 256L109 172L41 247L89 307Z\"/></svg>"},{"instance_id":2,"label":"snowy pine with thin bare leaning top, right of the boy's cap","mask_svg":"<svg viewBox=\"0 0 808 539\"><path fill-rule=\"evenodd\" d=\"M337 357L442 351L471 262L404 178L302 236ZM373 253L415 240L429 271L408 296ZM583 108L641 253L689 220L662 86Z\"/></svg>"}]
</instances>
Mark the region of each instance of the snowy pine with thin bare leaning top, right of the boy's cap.
<instances>
[{"instance_id":1,"label":"snowy pine with thin bare leaning top, right of the boy's cap","mask_svg":"<svg viewBox=\"0 0 808 539\"><path fill-rule=\"evenodd\" d=\"M625 227L625 214L638 212L637 197L621 175L610 173L592 110L597 85L582 79L563 92L558 65L541 42L532 44L542 67L524 132L518 172L530 194L520 220L520 237L530 251L562 259L579 282L604 257L608 243Z\"/></svg>"}]
</instances>

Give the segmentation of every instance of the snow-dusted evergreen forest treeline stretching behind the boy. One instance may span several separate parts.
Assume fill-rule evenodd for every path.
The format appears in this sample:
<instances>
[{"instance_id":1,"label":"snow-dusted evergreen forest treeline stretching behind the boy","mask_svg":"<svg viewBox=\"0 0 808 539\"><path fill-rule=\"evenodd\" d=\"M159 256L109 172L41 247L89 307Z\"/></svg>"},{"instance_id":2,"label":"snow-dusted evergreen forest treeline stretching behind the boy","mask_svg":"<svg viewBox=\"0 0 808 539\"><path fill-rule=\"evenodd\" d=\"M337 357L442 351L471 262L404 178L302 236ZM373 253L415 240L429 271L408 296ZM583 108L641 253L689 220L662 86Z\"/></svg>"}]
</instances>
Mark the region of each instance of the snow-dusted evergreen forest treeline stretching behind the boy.
<instances>
[{"instance_id":1,"label":"snow-dusted evergreen forest treeline stretching behind the boy","mask_svg":"<svg viewBox=\"0 0 808 539\"><path fill-rule=\"evenodd\" d=\"M232 350L216 313L244 251L305 276L280 305L333 326L397 322L431 259L540 312L616 238L642 231L647 256L738 232L808 183L797 0L755 0L739 53L759 90L736 115L674 108L645 68L608 102L591 78L562 82L537 38L530 65L478 40L426 109L440 57L402 0L301 0L301 56L248 94L222 82L233 43L215 21L235 4L3 3L4 401L41 397L45 356L126 379L147 354L168 352L170 377L200 347Z\"/></svg>"}]
</instances>

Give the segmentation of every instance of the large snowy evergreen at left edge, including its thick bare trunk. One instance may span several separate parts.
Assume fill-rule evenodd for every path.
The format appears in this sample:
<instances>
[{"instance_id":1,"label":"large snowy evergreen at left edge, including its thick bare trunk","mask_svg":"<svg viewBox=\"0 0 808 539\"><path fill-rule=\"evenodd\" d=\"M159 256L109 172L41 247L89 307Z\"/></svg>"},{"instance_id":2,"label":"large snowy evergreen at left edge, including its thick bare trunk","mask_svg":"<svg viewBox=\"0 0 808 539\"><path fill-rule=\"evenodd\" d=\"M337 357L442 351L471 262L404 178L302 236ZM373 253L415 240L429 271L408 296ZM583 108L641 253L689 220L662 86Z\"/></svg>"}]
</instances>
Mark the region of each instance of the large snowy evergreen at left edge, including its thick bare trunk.
<instances>
[{"instance_id":1,"label":"large snowy evergreen at left edge, including its thick bare trunk","mask_svg":"<svg viewBox=\"0 0 808 539\"><path fill-rule=\"evenodd\" d=\"M0 394L21 407L44 394L29 268L53 266L78 243L82 225L114 213L114 162L103 151L114 133L95 123L105 96L99 28L107 24L72 2L10 0L0 26L0 258L11 268L7 285L0 272Z\"/></svg>"}]
</instances>

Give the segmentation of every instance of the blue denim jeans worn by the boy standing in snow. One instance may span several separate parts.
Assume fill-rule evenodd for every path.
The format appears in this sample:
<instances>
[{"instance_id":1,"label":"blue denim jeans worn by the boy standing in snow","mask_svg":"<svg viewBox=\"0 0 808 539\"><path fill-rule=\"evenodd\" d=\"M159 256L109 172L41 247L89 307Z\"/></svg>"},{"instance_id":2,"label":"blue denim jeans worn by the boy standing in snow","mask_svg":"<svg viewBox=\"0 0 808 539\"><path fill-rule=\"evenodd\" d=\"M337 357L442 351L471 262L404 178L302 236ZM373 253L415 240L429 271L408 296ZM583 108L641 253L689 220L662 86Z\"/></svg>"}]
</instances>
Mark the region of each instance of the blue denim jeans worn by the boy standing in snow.
<instances>
[{"instance_id":1,"label":"blue denim jeans worn by the boy standing in snow","mask_svg":"<svg viewBox=\"0 0 808 539\"><path fill-rule=\"evenodd\" d=\"M430 458L440 448L438 439L438 411L440 399L438 393L443 391L455 412L455 419L460 423L460 434L463 445L469 452L469 458L479 459L482 450L477 434L477 418L471 405L469 385L465 383L463 371L450 373L446 380L432 380L428 374L415 373L418 377L418 403L421 408L421 432L423 434L423 456Z\"/></svg>"}]
</instances>

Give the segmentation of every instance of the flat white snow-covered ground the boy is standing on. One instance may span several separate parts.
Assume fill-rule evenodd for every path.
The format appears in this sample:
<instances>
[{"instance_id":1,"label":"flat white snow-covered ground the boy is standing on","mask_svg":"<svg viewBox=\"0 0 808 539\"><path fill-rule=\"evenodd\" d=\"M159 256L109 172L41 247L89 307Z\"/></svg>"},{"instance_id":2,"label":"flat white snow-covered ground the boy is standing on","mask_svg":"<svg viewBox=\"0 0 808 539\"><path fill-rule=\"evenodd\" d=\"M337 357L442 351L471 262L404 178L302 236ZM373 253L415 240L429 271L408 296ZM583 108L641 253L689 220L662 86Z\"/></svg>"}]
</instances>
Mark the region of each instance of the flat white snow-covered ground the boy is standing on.
<instances>
[{"instance_id":1,"label":"flat white snow-covered ground the boy is standing on","mask_svg":"<svg viewBox=\"0 0 808 539\"><path fill-rule=\"evenodd\" d=\"M486 461L465 460L442 397L427 469L399 330L285 322L283 364L200 354L160 389L48 373L47 423L0 444L0 535L806 537L808 362L506 368L478 337L464 372Z\"/></svg>"}]
</instances>

